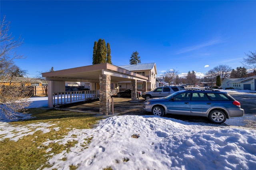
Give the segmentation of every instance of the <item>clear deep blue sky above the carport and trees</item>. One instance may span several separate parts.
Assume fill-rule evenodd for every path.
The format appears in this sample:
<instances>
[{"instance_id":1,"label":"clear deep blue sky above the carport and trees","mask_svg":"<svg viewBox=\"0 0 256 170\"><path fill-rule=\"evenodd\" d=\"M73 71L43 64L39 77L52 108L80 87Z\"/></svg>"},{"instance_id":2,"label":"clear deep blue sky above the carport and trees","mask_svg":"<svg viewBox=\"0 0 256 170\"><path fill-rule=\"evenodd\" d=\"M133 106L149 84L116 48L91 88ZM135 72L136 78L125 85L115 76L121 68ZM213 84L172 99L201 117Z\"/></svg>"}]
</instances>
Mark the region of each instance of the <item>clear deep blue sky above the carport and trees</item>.
<instances>
[{"instance_id":1,"label":"clear deep blue sky above the carport and trees","mask_svg":"<svg viewBox=\"0 0 256 170\"><path fill-rule=\"evenodd\" d=\"M242 66L256 50L256 1L0 1L24 44L16 60L29 77L92 64L94 41L110 43L112 63L156 63L203 76L220 64Z\"/></svg>"}]
</instances>

